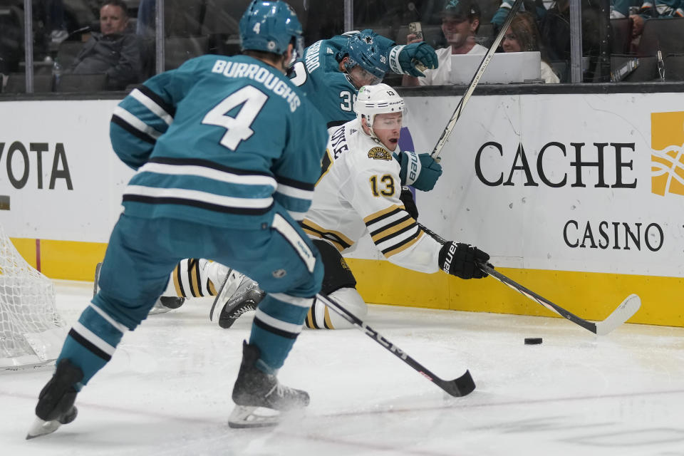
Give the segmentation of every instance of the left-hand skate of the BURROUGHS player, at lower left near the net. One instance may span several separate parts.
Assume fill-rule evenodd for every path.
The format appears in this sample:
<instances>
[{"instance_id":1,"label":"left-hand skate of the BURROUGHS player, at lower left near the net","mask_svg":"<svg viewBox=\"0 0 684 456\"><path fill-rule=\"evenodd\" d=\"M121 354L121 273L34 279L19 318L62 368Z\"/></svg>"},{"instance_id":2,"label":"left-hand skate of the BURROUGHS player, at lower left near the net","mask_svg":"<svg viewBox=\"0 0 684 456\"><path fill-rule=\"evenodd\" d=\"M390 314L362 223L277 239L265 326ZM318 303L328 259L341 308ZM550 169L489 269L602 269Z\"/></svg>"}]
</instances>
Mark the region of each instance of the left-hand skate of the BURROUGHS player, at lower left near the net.
<instances>
[{"instance_id":1,"label":"left-hand skate of the BURROUGHS player, at lower left near the net","mask_svg":"<svg viewBox=\"0 0 684 456\"><path fill-rule=\"evenodd\" d=\"M74 385L83 379L83 371L68 359L59 362L55 373L38 395L36 420L26 440L55 432L61 425L76 420L78 409L73 403L78 391Z\"/></svg>"}]
</instances>

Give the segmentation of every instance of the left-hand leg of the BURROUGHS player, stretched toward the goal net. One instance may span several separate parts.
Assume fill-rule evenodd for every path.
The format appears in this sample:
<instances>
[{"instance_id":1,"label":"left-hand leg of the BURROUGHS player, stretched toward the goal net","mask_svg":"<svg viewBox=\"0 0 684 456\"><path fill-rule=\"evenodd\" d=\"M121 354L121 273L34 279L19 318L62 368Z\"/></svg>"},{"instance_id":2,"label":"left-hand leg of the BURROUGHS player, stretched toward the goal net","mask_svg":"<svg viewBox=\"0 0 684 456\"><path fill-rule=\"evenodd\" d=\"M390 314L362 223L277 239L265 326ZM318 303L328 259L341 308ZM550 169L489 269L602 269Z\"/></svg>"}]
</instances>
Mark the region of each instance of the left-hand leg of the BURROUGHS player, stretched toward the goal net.
<instances>
[{"instance_id":1,"label":"left-hand leg of the BURROUGHS player, stretched toward the goal net","mask_svg":"<svg viewBox=\"0 0 684 456\"><path fill-rule=\"evenodd\" d=\"M76 418L73 404L78 391L110 361L124 333L137 328L149 314L177 261L162 259L160 252L165 251L155 249L160 227L168 225L167 220L145 222L125 214L115 224L97 278L100 289L66 336L56 371L38 395L36 423L28 438L54 432ZM150 248L146 256L140 254L145 247Z\"/></svg>"}]
</instances>

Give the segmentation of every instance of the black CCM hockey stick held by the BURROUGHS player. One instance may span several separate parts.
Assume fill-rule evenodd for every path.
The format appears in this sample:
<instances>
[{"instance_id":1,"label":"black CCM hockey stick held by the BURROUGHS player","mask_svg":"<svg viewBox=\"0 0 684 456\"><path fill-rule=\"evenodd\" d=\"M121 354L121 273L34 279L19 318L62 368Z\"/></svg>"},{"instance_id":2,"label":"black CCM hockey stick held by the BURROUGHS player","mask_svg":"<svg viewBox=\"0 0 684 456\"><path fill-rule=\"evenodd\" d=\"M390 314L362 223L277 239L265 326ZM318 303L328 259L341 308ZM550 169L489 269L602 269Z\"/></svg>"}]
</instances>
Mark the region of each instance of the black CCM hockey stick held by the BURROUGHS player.
<instances>
[{"instance_id":1,"label":"black CCM hockey stick held by the BURROUGHS player","mask_svg":"<svg viewBox=\"0 0 684 456\"><path fill-rule=\"evenodd\" d=\"M371 326L363 323L360 318L352 314L347 309L344 309L332 299L321 294L317 294L316 299L319 299L323 304L328 306L328 309L335 311L336 314L366 333L366 336L372 338L373 341L379 343L381 346L390 351L390 353L393 353L394 356L411 366L415 371L418 371L420 375L423 375L423 377L427 378L427 380L435 383L435 385L439 386L442 388L442 390L445 390L450 395L460 398L461 396L472 393L472 390L475 390L475 382L472 380L470 371L465 371L463 375L455 378L454 380L442 380L434 373L428 371L422 364L418 363L418 361L415 361L415 359L408 356L408 354L406 354L398 346L395 346L393 343L384 338L382 334L378 333L378 331L375 331L375 329L371 328Z\"/></svg>"}]
</instances>

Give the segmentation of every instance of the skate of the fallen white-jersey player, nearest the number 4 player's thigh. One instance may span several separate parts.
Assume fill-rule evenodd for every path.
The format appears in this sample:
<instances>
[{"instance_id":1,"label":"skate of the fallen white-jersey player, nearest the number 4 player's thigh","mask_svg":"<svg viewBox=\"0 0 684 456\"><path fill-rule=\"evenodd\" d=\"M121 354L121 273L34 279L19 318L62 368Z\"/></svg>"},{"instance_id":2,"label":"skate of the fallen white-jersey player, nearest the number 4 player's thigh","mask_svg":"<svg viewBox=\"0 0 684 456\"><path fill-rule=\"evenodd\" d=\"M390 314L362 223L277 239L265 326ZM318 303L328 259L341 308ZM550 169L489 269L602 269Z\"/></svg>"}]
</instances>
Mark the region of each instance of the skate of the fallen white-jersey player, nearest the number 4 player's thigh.
<instances>
[{"instance_id":1,"label":"skate of the fallen white-jersey player, nearest the number 4 player's thigh","mask_svg":"<svg viewBox=\"0 0 684 456\"><path fill-rule=\"evenodd\" d=\"M209 320L218 321L219 326L224 329L230 328L242 314L257 310L257 305L264 296L266 293L259 289L257 282L229 269L221 291L214 299Z\"/></svg>"}]
</instances>

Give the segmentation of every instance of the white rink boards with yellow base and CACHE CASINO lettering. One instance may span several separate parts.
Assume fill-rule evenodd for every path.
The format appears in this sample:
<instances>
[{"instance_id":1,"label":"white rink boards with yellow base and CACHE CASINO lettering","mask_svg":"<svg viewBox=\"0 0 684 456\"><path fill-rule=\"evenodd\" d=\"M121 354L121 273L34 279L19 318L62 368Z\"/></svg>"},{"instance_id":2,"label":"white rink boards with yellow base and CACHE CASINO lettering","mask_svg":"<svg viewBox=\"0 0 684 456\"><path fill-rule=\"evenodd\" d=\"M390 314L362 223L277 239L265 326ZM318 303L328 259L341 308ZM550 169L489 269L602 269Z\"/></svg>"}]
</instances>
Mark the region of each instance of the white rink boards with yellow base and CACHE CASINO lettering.
<instances>
[{"instance_id":1,"label":"white rink boards with yellow base and CACHE CASINO lettering","mask_svg":"<svg viewBox=\"0 0 684 456\"><path fill-rule=\"evenodd\" d=\"M415 150L431 150L457 96L407 96ZM0 222L55 279L92 280L133 175L108 142L118 100L3 102ZM487 95L470 100L442 152L420 221L476 244L542 296L603 319L628 294L631 321L684 326L684 95ZM58 113L58 115L56 115ZM26 123L24 119L33 119ZM418 274L368 239L350 264L367 301L548 315L493 279Z\"/></svg>"}]
</instances>

